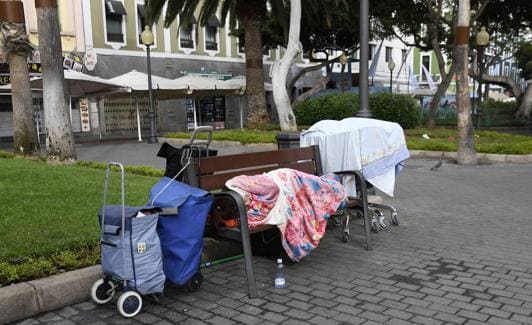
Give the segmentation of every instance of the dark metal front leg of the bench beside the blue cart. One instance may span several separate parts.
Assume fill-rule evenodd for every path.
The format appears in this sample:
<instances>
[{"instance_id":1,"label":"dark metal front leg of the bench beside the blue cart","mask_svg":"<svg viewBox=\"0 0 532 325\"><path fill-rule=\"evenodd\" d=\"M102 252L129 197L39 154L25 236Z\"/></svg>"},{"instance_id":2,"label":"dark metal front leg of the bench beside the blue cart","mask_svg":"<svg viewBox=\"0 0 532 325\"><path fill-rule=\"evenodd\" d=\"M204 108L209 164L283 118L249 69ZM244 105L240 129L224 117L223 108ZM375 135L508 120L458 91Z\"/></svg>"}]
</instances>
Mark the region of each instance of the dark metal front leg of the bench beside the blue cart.
<instances>
[{"instance_id":1,"label":"dark metal front leg of the bench beside the blue cart","mask_svg":"<svg viewBox=\"0 0 532 325\"><path fill-rule=\"evenodd\" d=\"M225 192L233 198L238 206L240 218L240 233L242 235L242 248L244 250L244 264L246 267L246 275L248 278L248 296L250 299L258 297L257 284L255 282L255 273L253 272L253 252L251 251L251 242L249 238L248 217L246 215L246 206L242 197L236 192Z\"/></svg>"}]
</instances>

